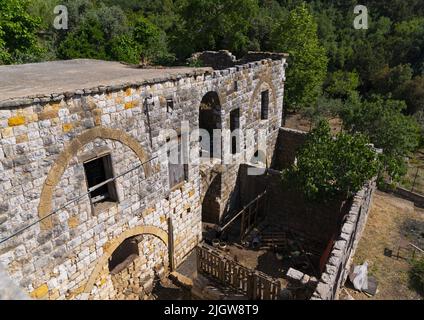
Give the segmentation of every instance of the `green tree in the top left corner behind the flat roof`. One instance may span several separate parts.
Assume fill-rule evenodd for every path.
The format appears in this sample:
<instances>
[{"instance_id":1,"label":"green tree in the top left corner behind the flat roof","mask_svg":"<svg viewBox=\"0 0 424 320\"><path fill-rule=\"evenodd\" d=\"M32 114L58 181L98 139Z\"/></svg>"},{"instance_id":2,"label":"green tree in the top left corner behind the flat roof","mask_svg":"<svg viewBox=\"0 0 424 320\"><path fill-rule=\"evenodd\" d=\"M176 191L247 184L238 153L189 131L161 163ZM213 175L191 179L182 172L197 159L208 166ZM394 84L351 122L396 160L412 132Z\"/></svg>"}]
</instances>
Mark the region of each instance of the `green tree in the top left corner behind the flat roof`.
<instances>
[{"instance_id":1,"label":"green tree in the top left corner behind the flat roof","mask_svg":"<svg viewBox=\"0 0 424 320\"><path fill-rule=\"evenodd\" d=\"M42 54L40 19L27 12L28 0L0 0L0 59L3 63L36 61Z\"/></svg>"}]
</instances>

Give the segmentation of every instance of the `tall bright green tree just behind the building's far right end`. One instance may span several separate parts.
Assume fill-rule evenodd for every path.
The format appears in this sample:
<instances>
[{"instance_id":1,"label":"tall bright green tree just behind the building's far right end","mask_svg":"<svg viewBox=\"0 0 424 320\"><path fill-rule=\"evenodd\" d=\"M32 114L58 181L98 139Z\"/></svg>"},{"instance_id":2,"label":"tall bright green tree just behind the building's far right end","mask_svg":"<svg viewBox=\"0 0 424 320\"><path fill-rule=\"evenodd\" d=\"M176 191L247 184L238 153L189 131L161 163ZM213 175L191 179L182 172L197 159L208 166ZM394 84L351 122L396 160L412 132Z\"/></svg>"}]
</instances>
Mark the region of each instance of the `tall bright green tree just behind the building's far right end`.
<instances>
[{"instance_id":1,"label":"tall bright green tree just behind the building's far right end","mask_svg":"<svg viewBox=\"0 0 424 320\"><path fill-rule=\"evenodd\" d=\"M313 104L321 94L328 59L318 40L317 24L304 3L276 28L273 41L276 50L290 54L286 107L298 110Z\"/></svg>"}]
</instances>

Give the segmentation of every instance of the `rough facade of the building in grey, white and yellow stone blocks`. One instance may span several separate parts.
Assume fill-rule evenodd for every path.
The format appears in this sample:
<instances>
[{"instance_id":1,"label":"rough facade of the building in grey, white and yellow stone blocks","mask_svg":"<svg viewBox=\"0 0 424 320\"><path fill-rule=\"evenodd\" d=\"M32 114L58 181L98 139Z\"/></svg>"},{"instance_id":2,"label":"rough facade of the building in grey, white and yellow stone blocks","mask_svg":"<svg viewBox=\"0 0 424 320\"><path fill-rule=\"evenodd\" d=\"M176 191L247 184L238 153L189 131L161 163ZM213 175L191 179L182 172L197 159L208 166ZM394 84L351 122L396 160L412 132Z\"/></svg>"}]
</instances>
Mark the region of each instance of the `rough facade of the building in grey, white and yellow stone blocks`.
<instances>
[{"instance_id":1,"label":"rough facade of the building in grey, white and yellow stone blocks","mask_svg":"<svg viewBox=\"0 0 424 320\"><path fill-rule=\"evenodd\" d=\"M221 203L216 210L219 221L239 205L235 188L242 154L253 155L257 148L244 144L240 154L224 154L235 162L219 165L220 173L189 164L185 181L171 188L168 136L162 130L179 129L182 120L190 129L198 128L202 98L215 92L220 100L218 127L229 129L230 112L240 108L240 128L267 130L271 151L267 157L269 161L273 157L281 126L286 56L252 53L252 57L261 59L219 71L131 70L131 81L109 84L90 78L95 86L64 84L66 91L55 78L58 69L40 77L49 90L57 86L50 92L19 96L0 90L1 238L43 219L0 246L0 263L10 276L37 299L148 296L154 278L167 272L168 265L179 265L201 241L202 200L209 186L202 177L212 181L216 174L222 175L214 194ZM100 62L72 63L66 62L75 67L72 79L83 81L86 74L102 72L90 70ZM101 63L104 73L113 64ZM8 68L12 67L0 67L0 77ZM13 68L22 74L25 68L48 73L49 63ZM111 73L116 70L120 67L114 64ZM37 90L43 90L43 83ZM264 90L270 95L267 120L260 117ZM172 108L167 105L170 99ZM198 152L199 142L189 147ZM93 206L86 195L84 162L106 154L113 176L118 177L117 201ZM136 169L127 172L132 168ZM114 251L140 235L145 236L138 257L112 275L108 261ZM134 291L142 287L143 297L124 292L125 283Z\"/></svg>"}]
</instances>

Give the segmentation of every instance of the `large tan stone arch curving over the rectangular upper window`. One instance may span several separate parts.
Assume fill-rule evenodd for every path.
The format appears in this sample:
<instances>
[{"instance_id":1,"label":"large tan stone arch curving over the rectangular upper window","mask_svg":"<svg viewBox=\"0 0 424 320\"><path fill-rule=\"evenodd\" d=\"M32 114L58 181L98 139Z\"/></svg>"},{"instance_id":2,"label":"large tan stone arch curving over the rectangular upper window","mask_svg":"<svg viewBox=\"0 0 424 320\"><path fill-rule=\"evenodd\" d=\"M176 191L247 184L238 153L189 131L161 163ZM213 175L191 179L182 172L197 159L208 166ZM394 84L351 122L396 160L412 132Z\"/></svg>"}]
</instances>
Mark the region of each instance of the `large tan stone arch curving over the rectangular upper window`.
<instances>
[{"instance_id":1,"label":"large tan stone arch curving over the rectangular upper window","mask_svg":"<svg viewBox=\"0 0 424 320\"><path fill-rule=\"evenodd\" d=\"M148 160L148 155L140 143L122 130L95 127L84 131L82 134L74 138L59 154L59 157L53 163L49 173L47 174L47 178L44 181L40 196L40 204L38 206L38 216L40 219L44 219L41 221L41 227L43 229L52 228L52 219L50 217L46 218L46 216L52 212L54 190L59 184L62 175L69 165L69 162L86 144L97 138L119 141L133 150L142 163L145 163ZM150 164L145 163L143 168L146 177L150 176L152 170Z\"/></svg>"}]
</instances>

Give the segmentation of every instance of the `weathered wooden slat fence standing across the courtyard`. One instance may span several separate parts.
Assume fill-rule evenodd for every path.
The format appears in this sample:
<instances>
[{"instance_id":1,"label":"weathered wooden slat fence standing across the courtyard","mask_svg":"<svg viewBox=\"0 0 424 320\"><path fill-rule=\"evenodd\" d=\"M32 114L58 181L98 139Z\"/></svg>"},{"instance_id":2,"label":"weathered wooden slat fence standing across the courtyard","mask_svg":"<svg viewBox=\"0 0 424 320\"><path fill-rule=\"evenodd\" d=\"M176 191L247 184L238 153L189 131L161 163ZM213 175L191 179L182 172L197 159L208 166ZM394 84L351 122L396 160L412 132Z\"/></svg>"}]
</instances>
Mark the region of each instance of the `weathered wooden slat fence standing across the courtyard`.
<instances>
[{"instance_id":1,"label":"weathered wooden slat fence standing across the courtyard","mask_svg":"<svg viewBox=\"0 0 424 320\"><path fill-rule=\"evenodd\" d=\"M280 281L250 270L206 244L197 247L197 269L251 300L277 300L281 291Z\"/></svg>"}]
</instances>

